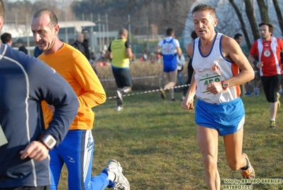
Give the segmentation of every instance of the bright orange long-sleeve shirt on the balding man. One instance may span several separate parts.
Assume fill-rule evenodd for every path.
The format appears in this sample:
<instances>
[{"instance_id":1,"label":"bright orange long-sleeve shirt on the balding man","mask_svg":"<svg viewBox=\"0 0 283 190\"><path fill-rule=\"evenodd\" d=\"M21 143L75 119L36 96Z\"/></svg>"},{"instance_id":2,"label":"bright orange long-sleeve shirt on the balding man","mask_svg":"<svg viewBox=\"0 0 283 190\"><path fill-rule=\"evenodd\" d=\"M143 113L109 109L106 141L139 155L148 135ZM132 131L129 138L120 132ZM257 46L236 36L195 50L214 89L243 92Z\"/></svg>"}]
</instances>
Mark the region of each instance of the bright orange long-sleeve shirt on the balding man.
<instances>
[{"instance_id":1,"label":"bright orange long-sleeve shirt on the balding man","mask_svg":"<svg viewBox=\"0 0 283 190\"><path fill-rule=\"evenodd\" d=\"M62 75L77 94L79 109L70 130L92 129L94 112L91 107L104 103L106 93L87 58L67 43L64 43L59 51L50 55L43 53L38 58ZM52 112L46 102L43 102L42 106L45 127L48 127L52 120Z\"/></svg>"}]
</instances>

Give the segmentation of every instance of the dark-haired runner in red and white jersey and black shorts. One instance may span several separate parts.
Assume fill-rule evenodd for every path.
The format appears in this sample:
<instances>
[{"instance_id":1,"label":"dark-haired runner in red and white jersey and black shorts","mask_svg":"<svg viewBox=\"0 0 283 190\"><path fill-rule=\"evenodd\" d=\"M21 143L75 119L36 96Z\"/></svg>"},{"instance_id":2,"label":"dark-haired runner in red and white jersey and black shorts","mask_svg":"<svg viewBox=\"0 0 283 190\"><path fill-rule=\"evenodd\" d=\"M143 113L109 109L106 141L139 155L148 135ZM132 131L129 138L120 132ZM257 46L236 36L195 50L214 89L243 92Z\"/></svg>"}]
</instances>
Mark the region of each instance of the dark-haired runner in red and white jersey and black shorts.
<instances>
[{"instance_id":1,"label":"dark-haired runner in red and white jersey and black shorts","mask_svg":"<svg viewBox=\"0 0 283 190\"><path fill-rule=\"evenodd\" d=\"M265 97L270 102L270 127L274 129L279 102L279 85L282 75L280 52L283 41L272 37L274 26L271 23L260 23L260 36L250 49L249 60L260 69ZM258 60L255 60L255 56Z\"/></svg>"}]
</instances>

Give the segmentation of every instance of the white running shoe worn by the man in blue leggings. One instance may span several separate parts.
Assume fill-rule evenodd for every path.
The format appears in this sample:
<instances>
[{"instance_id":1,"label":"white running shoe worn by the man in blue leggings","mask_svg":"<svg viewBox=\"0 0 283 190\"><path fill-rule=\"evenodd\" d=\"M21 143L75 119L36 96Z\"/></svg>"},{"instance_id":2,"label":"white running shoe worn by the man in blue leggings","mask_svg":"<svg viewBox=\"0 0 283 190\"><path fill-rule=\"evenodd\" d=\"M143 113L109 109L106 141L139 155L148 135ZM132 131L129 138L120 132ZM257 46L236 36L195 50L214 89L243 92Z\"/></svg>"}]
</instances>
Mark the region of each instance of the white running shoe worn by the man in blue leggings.
<instances>
[{"instance_id":1,"label":"white running shoe worn by the man in blue leggings","mask_svg":"<svg viewBox=\"0 0 283 190\"><path fill-rule=\"evenodd\" d=\"M130 184L126 176L122 174L123 168L121 164L117 162L115 159L109 159L108 163L106 164L107 171L111 171L115 174L115 186L113 187L114 190L130 190Z\"/></svg>"}]
</instances>

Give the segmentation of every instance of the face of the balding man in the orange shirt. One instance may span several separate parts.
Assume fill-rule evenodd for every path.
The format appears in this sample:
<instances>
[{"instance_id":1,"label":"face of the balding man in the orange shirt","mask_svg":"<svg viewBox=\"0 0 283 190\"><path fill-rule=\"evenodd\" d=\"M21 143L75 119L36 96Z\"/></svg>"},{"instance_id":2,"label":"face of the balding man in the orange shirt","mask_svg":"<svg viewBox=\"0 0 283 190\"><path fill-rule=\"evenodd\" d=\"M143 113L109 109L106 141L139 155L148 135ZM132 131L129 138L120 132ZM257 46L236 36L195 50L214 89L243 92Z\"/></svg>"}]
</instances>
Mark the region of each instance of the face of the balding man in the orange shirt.
<instances>
[{"instance_id":1,"label":"face of the balding man in the orange shirt","mask_svg":"<svg viewBox=\"0 0 283 190\"><path fill-rule=\"evenodd\" d=\"M43 14L31 20L31 31L38 48L42 51L48 51L55 43L59 26L52 26L49 15Z\"/></svg>"}]
</instances>

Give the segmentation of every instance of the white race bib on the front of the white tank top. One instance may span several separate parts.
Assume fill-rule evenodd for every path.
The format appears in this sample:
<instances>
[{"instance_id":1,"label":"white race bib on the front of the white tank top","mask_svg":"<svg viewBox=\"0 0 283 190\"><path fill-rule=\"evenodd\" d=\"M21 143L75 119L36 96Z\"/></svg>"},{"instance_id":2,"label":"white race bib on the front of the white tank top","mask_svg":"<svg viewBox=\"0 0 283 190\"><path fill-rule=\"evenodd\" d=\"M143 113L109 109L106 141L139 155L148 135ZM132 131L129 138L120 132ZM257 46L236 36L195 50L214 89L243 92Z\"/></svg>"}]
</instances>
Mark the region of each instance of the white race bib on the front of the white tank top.
<instances>
[{"instance_id":1,"label":"white race bib on the front of the white tank top","mask_svg":"<svg viewBox=\"0 0 283 190\"><path fill-rule=\"evenodd\" d=\"M213 82L220 82L221 80L222 80L222 75L218 73L201 73L201 75L199 76L199 84L200 84L199 87L201 88L201 92L204 95L204 97L213 96L213 93L207 90L207 85Z\"/></svg>"}]
</instances>

